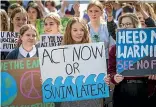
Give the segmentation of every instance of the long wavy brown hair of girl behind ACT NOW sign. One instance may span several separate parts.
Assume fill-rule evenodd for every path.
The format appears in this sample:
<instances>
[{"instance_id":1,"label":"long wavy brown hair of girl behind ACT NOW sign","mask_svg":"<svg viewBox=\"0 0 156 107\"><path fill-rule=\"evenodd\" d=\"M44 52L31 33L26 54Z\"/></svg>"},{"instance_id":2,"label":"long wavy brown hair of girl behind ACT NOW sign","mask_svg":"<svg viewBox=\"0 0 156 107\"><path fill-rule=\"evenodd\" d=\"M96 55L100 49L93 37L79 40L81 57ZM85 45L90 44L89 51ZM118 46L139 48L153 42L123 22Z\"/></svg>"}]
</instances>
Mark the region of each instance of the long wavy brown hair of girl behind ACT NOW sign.
<instances>
[{"instance_id":1,"label":"long wavy brown hair of girl behind ACT NOW sign","mask_svg":"<svg viewBox=\"0 0 156 107\"><path fill-rule=\"evenodd\" d=\"M83 26L83 30L84 30L84 37L81 43L90 43L89 31L87 25L85 24L85 21L78 17L73 17L68 21L65 34L63 37L63 45L76 44L76 42L72 39L72 35L71 35L72 25L76 22L80 23Z\"/></svg>"}]
</instances>

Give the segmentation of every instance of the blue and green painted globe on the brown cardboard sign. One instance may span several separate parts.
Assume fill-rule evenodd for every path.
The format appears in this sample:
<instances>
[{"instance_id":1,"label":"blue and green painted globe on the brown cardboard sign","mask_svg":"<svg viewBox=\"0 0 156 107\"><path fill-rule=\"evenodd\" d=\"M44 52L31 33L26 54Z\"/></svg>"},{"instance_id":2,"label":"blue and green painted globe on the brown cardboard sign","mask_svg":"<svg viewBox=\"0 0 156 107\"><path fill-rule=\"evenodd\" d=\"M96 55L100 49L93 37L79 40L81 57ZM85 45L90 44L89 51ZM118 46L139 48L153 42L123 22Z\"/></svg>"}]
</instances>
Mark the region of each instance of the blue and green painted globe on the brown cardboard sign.
<instances>
[{"instance_id":1,"label":"blue and green painted globe on the brown cardboard sign","mask_svg":"<svg viewBox=\"0 0 156 107\"><path fill-rule=\"evenodd\" d=\"M8 72L1 72L2 106L12 104L17 96L17 91L16 80Z\"/></svg>"}]
</instances>

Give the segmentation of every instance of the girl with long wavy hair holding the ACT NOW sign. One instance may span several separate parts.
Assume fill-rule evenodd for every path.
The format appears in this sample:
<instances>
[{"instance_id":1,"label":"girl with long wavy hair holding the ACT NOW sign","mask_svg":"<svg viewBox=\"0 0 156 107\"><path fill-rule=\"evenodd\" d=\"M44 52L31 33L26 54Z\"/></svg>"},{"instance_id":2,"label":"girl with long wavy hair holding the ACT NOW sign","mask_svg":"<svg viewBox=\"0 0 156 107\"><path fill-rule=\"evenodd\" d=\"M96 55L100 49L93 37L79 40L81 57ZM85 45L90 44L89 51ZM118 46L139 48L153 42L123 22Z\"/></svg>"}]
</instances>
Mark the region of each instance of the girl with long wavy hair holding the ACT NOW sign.
<instances>
[{"instance_id":1,"label":"girl with long wavy hair holding the ACT NOW sign","mask_svg":"<svg viewBox=\"0 0 156 107\"><path fill-rule=\"evenodd\" d=\"M72 18L69 20L66 31L63 38L63 45L72 44L83 44L90 43L90 35L84 20L79 18ZM105 81L109 78L105 79ZM107 82L108 83L108 82ZM85 101L74 101L74 102L64 102L61 107L102 107L102 100L85 100Z\"/></svg>"}]
</instances>

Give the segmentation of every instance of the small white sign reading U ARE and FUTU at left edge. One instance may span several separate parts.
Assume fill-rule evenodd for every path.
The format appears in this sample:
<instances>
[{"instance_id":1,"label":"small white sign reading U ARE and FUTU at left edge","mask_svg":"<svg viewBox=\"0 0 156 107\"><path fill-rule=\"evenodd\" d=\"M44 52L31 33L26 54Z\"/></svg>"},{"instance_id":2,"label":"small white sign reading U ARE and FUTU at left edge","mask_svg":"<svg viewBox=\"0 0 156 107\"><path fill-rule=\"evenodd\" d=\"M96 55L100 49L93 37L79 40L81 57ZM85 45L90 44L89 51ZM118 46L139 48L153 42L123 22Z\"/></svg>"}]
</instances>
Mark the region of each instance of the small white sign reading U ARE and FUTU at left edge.
<instances>
[{"instance_id":1,"label":"small white sign reading U ARE and FUTU at left edge","mask_svg":"<svg viewBox=\"0 0 156 107\"><path fill-rule=\"evenodd\" d=\"M18 33L16 32L0 32L1 52L12 51L17 44Z\"/></svg>"}]
</instances>

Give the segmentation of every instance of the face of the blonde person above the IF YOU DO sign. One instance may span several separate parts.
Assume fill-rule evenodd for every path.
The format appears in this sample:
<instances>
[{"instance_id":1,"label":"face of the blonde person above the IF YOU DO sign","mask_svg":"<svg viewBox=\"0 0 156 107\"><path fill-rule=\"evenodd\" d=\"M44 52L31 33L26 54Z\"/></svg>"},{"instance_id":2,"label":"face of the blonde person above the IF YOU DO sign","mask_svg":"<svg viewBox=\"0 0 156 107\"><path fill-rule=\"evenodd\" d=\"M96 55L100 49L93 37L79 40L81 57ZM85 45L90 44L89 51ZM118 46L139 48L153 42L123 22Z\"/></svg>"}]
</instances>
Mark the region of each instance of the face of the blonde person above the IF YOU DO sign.
<instances>
[{"instance_id":1,"label":"face of the blonde person above the IF YOU DO sign","mask_svg":"<svg viewBox=\"0 0 156 107\"><path fill-rule=\"evenodd\" d=\"M45 19L44 32L46 34L58 34L58 25L52 18Z\"/></svg>"}]
</instances>

